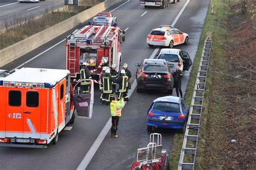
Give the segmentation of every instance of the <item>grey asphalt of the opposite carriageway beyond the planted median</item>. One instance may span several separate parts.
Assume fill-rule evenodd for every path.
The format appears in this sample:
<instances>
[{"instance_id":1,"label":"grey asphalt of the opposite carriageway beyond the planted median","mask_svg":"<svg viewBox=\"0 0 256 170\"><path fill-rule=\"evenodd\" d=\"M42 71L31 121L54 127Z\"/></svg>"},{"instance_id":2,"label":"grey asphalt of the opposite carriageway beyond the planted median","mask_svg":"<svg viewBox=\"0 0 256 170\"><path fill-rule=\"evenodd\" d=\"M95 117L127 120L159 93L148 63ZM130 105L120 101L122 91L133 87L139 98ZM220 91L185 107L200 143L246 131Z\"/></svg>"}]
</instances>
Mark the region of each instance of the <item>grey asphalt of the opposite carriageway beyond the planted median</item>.
<instances>
[{"instance_id":1,"label":"grey asphalt of the opposite carriageway beyond the planted median","mask_svg":"<svg viewBox=\"0 0 256 170\"><path fill-rule=\"evenodd\" d=\"M0 0L0 25L4 28L6 23L10 26L17 21L17 18L19 18L18 20L24 20L31 16L37 17L62 5L64 5L63 0L46 0L39 3Z\"/></svg>"}]
</instances>

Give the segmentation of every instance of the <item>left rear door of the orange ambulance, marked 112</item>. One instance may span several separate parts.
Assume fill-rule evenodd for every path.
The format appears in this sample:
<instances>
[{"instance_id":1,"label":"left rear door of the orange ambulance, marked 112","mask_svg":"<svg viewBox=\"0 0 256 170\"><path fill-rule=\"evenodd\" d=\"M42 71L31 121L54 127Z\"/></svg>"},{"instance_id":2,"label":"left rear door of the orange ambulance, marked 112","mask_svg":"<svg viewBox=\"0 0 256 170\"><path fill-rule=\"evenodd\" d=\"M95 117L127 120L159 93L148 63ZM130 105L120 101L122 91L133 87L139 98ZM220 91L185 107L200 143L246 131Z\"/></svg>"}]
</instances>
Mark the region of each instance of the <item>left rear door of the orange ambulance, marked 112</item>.
<instances>
[{"instance_id":1,"label":"left rear door of the orange ambulance, marked 112","mask_svg":"<svg viewBox=\"0 0 256 170\"><path fill-rule=\"evenodd\" d=\"M6 87L5 137L23 138L23 88Z\"/></svg>"}]
</instances>

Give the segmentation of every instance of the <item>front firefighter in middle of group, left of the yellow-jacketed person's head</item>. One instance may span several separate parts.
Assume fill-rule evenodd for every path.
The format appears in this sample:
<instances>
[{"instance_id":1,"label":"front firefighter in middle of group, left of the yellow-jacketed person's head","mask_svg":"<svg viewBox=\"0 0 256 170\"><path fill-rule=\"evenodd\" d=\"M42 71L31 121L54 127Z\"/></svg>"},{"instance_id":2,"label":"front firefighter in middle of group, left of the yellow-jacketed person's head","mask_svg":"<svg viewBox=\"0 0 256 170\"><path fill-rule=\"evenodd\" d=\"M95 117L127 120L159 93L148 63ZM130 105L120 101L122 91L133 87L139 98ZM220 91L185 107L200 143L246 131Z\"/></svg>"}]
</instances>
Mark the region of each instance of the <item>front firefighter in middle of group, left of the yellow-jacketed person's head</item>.
<instances>
[{"instance_id":1,"label":"front firefighter in middle of group, left of the yellow-jacketed person's head","mask_svg":"<svg viewBox=\"0 0 256 170\"><path fill-rule=\"evenodd\" d=\"M103 82L103 95L102 104L110 105L110 95L112 94L112 84L116 82L110 75L110 69L107 68L104 76L102 76Z\"/></svg>"}]
</instances>

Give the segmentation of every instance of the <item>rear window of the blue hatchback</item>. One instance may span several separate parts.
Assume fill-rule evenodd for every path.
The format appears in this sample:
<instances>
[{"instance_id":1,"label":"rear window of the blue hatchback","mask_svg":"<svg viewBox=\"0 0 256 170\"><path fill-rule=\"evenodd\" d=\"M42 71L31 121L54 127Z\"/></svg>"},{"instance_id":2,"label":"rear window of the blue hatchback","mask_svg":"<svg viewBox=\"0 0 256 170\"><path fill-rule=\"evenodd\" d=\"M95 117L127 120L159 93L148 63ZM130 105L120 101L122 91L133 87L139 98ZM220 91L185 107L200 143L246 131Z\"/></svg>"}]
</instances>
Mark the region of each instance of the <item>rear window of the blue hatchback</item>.
<instances>
[{"instance_id":1,"label":"rear window of the blue hatchback","mask_svg":"<svg viewBox=\"0 0 256 170\"><path fill-rule=\"evenodd\" d=\"M153 110L161 112L180 112L178 103L156 102Z\"/></svg>"}]
</instances>

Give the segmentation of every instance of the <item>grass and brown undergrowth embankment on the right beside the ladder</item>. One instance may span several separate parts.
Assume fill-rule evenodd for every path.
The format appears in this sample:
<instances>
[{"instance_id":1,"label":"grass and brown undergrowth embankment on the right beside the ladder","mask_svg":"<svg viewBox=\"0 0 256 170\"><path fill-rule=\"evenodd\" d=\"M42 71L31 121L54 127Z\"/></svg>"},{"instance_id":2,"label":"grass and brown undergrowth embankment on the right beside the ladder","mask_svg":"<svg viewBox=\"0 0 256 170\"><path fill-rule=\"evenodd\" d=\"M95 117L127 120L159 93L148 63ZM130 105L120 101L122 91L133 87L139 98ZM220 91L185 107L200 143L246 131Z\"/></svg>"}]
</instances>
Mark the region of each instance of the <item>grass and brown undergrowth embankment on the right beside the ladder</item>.
<instances>
[{"instance_id":1,"label":"grass and brown undergrowth embankment on the right beside the ladder","mask_svg":"<svg viewBox=\"0 0 256 170\"><path fill-rule=\"evenodd\" d=\"M189 103L206 35L212 39L195 169L255 169L255 2L212 0L186 90ZM176 134L170 169L177 169L184 134Z\"/></svg>"}]
</instances>

